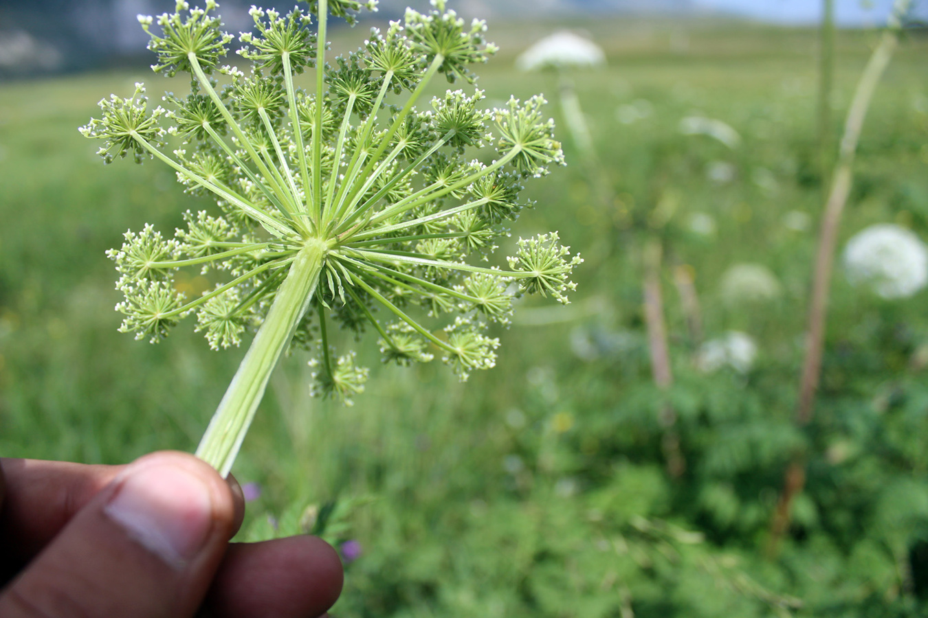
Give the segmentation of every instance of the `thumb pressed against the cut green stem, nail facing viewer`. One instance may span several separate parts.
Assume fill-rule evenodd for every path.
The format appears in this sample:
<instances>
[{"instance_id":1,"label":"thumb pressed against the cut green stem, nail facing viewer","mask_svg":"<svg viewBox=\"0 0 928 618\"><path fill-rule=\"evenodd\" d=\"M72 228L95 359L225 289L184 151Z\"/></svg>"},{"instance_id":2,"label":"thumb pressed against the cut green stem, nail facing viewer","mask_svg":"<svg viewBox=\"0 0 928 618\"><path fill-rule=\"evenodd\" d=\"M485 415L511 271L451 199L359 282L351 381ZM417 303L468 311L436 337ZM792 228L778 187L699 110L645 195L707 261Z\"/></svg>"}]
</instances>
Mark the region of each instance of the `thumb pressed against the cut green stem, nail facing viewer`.
<instances>
[{"instance_id":1,"label":"thumb pressed against the cut green stem, nail facing viewer","mask_svg":"<svg viewBox=\"0 0 928 618\"><path fill-rule=\"evenodd\" d=\"M0 592L0 616L193 616L233 520L229 487L208 464L176 452L143 457Z\"/></svg>"}]
</instances>

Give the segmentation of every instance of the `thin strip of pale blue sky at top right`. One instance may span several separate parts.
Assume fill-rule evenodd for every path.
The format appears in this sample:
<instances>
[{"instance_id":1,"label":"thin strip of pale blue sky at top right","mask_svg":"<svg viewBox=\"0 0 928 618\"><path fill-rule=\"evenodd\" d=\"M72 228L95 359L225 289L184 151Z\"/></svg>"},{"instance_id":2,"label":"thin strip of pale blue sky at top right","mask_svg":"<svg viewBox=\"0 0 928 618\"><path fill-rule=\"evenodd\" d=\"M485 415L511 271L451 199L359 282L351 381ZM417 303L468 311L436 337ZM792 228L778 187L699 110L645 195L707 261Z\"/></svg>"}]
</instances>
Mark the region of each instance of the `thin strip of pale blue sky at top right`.
<instances>
[{"instance_id":1,"label":"thin strip of pale blue sky at top right","mask_svg":"<svg viewBox=\"0 0 928 618\"><path fill-rule=\"evenodd\" d=\"M696 0L696 5L782 23L818 22L822 11L821 0ZM883 24L892 6L893 0L834 0L835 19L845 26ZM924 17L928 0L915 0L915 9Z\"/></svg>"}]
</instances>

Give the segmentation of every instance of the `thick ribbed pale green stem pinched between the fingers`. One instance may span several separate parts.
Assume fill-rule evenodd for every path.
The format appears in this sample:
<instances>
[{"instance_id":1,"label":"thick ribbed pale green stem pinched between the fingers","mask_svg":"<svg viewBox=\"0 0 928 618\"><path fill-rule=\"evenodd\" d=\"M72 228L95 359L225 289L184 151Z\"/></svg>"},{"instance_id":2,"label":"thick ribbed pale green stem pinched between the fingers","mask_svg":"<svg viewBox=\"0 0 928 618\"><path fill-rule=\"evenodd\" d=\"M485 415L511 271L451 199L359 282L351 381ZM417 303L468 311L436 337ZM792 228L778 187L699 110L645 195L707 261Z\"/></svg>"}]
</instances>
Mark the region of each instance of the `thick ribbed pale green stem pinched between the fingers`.
<instances>
[{"instance_id":1,"label":"thick ribbed pale green stem pinched between the fingers","mask_svg":"<svg viewBox=\"0 0 928 618\"><path fill-rule=\"evenodd\" d=\"M316 293L326 250L324 244L311 240L293 260L274 304L200 441L197 457L223 476L232 468L277 359L290 344L294 329Z\"/></svg>"}]
</instances>

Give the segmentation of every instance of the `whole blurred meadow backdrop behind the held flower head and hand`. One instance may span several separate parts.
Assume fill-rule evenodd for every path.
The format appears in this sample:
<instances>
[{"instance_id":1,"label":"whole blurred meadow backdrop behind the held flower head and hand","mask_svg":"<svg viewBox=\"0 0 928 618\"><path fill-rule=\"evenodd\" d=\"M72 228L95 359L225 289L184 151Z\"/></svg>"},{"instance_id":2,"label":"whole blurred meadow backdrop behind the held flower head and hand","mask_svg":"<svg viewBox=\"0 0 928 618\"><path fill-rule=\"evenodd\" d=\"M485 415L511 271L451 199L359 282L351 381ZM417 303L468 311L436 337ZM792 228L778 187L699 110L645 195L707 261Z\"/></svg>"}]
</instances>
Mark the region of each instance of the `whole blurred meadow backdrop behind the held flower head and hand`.
<instances>
[{"instance_id":1,"label":"whole blurred meadow backdrop behind the held flower head and hand","mask_svg":"<svg viewBox=\"0 0 928 618\"><path fill-rule=\"evenodd\" d=\"M250 5L221 4L250 28ZM324 534L347 570L334 616L928 615L928 2L863 125L807 421L818 229L892 3L449 4L501 47L478 69L489 105L547 95L569 166L529 183L513 235L556 229L586 258L574 302L523 304L464 385L359 344L353 408L308 397L291 355L234 471L240 538ZM333 48L404 6L334 28ZM190 323L157 346L116 332L104 252L211 205L153 162L104 169L77 127L135 82L187 86L148 70L135 19L173 8L0 0L4 456L192 449L244 352ZM577 64L524 55L552 34Z\"/></svg>"}]
</instances>

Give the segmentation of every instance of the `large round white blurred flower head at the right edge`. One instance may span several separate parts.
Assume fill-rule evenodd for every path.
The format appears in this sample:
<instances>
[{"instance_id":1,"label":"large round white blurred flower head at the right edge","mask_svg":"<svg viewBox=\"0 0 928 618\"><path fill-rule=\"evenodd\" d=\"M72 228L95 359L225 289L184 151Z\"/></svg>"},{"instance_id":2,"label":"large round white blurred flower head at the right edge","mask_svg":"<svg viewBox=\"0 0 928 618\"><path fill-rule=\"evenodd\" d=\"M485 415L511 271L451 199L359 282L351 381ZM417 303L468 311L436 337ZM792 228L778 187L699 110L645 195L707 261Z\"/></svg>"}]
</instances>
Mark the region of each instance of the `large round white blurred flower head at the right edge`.
<instances>
[{"instance_id":1,"label":"large round white blurred flower head at the right edge","mask_svg":"<svg viewBox=\"0 0 928 618\"><path fill-rule=\"evenodd\" d=\"M878 223L847 242L844 270L851 284L867 285L883 298L905 298L928 284L928 248L909 230Z\"/></svg>"}]
</instances>

